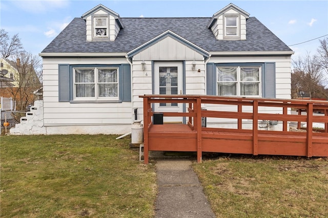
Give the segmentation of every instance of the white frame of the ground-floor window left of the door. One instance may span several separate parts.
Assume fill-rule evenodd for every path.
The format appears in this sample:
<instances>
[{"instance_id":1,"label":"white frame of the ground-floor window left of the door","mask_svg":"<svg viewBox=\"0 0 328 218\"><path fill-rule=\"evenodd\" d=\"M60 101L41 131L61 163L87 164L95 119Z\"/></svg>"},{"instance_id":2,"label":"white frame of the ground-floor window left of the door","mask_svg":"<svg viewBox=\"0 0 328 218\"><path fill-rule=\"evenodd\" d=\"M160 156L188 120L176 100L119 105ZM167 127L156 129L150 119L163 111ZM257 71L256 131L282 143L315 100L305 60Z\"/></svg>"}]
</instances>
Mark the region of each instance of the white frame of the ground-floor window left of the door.
<instances>
[{"instance_id":1,"label":"white frame of the ground-floor window left of the door","mask_svg":"<svg viewBox=\"0 0 328 218\"><path fill-rule=\"evenodd\" d=\"M94 70L94 85L95 85L95 96L94 97L76 97L76 81L75 81L75 70L84 70L84 69L93 69ZM116 70L117 74L117 82L106 82L108 84L116 84L117 83L117 96L116 97L98 97L98 69L109 69ZM117 67L86 67L86 68L73 68L73 100L92 100L92 101L101 101L101 100L119 100L119 69Z\"/></svg>"}]
</instances>

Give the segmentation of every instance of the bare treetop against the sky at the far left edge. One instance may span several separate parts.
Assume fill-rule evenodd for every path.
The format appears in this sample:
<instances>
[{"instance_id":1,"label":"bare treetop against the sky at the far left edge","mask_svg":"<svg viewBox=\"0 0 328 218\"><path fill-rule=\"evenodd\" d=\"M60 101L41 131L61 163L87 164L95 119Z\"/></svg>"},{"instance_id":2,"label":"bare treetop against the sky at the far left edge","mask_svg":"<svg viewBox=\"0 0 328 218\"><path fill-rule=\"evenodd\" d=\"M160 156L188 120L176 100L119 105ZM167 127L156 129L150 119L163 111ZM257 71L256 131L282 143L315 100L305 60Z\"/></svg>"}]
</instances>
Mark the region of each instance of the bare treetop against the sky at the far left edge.
<instances>
[{"instance_id":1,"label":"bare treetop against the sky at the far left edge","mask_svg":"<svg viewBox=\"0 0 328 218\"><path fill-rule=\"evenodd\" d=\"M18 37L18 33L9 39L8 33L4 30L0 30L0 53L3 58L8 58L11 55L16 55L22 51L23 46Z\"/></svg>"}]
</instances>

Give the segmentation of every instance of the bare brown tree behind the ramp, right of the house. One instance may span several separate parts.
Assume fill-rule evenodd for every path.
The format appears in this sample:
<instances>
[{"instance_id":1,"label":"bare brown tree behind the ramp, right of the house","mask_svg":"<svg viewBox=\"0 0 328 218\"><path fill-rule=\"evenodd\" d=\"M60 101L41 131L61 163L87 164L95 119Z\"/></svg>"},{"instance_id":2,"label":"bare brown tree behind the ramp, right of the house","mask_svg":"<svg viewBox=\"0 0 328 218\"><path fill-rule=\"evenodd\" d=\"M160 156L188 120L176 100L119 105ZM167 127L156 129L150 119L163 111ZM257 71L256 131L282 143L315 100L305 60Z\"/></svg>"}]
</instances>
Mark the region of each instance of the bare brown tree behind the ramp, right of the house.
<instances>
[{"instance_id":1,"label":"bare brown tree behind the ramp, right of the house","mask_svg":"<svg viewBox=\"0 0 328 218\"><path fill-rule=\"evenodd\" d=\"M304 57L293 60L294 73L292 74L292 90L303 89L311 98L326 96L324 84L325 75L316 55L307 53Z\"/></svg>"}]
</instances>

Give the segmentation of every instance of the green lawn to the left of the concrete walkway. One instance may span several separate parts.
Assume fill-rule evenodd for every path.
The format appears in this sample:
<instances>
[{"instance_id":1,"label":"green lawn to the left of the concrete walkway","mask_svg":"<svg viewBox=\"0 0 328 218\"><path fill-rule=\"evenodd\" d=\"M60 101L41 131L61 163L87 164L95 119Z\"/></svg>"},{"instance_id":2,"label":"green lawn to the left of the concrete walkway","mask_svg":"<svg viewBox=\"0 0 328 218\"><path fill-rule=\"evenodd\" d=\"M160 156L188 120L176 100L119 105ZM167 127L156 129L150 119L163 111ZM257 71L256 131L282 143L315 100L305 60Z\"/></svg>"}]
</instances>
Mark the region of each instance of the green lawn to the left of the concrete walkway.
<instances>
[{"instance_id":1,"label":"green lawn to the left of the concrete walkway","mask_svg":"<svg viewBox=\"0 0 328 218\"><path fill-rule=\"evenodd\" d=\"M1 217L153 217L156 175L117 136L2 136Z\"/></svg>"}]
</instances>

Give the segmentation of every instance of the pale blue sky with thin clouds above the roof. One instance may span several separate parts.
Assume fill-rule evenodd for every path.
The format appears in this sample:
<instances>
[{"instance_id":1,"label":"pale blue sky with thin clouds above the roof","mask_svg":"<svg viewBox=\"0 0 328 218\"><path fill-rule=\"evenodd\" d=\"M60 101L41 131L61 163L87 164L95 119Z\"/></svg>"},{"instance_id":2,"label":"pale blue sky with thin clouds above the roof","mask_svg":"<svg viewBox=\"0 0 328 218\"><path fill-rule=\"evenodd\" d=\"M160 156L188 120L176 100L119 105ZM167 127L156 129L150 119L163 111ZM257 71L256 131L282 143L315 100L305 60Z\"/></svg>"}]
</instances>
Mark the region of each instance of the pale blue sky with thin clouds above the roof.
<instances>
[{"instance_id":1,"label":"pale blue sky with thin clouds above the roof","mask_svg":"<svg viewBox=\"0 0 328 218\"><path fill-rule=\"evenodd\" d=\"M230 3L256 17L288 46L328 34L328 1L0 0L0 28L9 36L18 33L24 49L38 55L74 17L98 4L120 17L212 17ZM315 54L318 47L316 39L291 49L296 58Z\"/></svg>"}]
</instances>

